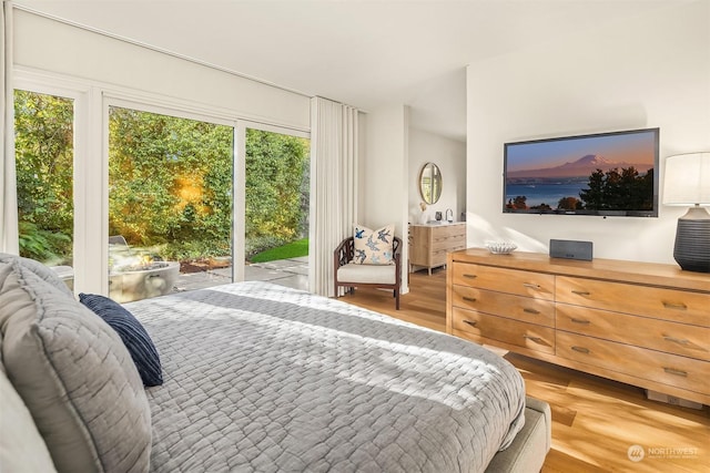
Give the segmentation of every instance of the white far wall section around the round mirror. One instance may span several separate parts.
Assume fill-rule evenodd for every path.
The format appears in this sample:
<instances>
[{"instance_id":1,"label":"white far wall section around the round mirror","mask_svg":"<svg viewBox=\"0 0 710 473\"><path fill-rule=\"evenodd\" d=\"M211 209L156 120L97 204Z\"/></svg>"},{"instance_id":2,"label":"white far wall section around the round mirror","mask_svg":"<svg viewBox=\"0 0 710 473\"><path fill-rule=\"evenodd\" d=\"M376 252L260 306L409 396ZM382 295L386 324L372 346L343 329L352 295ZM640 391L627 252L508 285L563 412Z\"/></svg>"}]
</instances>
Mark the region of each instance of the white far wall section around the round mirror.
<instances>
[{"instance_id":1,"label":"white far wall section around the round mirror","mask_svg":"<svg viewBox=\"0 0 710 473\"><path fill-rule=\"evenodd\" d=\"M423 200L419 193L419 173L429 162L442 171L443 187L439 200L427 207L427 217L434 219L434 214L440 212L446 218L446 209L450 208L454 210L454 219L459 220L460 213L466 209L466 143L409 128L409 222L418 223L419 203Z\"/></svg>"}]
</instances>

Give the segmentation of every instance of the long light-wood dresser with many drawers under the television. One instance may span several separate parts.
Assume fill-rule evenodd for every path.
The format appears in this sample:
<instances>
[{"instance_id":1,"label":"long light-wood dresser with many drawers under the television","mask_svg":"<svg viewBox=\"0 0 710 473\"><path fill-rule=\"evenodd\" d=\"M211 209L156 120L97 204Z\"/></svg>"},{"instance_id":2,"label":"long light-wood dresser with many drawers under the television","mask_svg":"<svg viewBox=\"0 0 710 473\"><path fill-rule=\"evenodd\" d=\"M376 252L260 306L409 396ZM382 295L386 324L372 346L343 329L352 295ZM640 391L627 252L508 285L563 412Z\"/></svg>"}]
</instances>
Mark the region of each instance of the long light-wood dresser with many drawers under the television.
<instances>
[{"instance_id":1,"label":"long light-wood dresser with many drawers under the television","mask_svg":"<svg viewBox=\"0 0 710 473\"><path fill-rule=\"evenodd\" d=\"M448 268L449 333L710 404L710 275L479 248Z\"/></svg>"}]
</instances>

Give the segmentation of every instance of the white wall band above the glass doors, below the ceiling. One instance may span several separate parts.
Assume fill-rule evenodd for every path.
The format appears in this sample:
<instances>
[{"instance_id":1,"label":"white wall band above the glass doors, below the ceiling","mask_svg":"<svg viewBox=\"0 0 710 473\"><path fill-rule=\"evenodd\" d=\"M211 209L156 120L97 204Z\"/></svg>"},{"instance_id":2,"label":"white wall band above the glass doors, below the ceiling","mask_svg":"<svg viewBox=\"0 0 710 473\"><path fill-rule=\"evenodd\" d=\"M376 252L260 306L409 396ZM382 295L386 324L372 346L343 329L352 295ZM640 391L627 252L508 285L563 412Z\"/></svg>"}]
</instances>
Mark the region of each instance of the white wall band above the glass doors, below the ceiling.
<instances>
[{"instance_id":1,"label":"white wall band above the glass doors, below the ceiling","mask_svg":"<svg viewBox=\"0 0 710 473\"><path fill-rule=\"evenodd\" d=\"M310 130L308 96L121 41L36 13L13 10L13 63L105 89L156 93L225 116Z\"/></svg>"}]
</instances>

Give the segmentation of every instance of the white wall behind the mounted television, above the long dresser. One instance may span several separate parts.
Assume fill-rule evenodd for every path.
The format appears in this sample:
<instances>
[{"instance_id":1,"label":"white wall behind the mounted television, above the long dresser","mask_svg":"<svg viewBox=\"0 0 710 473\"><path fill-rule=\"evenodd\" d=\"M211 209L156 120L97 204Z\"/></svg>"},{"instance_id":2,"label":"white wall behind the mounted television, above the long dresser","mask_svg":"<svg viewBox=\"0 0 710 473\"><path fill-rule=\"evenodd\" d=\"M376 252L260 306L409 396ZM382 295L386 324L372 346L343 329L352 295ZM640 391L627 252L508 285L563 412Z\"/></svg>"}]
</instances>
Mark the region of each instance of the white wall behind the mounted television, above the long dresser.
<instances>
[{"instance_id":1,"label":"white wall behind the mounted television, above the long dresser","mask_svg":"<svg viewBox=\"0 0 710 473\"><path fill-rule=\"evenodd\" d=\"M660 127L666 156L710 150L710 2L580 32L467 68L468 246L510 238L548 251L550 238L594 241L595 257L673 263L677 218L503 214L503 144Z\"/></svg>"}]
</instances>

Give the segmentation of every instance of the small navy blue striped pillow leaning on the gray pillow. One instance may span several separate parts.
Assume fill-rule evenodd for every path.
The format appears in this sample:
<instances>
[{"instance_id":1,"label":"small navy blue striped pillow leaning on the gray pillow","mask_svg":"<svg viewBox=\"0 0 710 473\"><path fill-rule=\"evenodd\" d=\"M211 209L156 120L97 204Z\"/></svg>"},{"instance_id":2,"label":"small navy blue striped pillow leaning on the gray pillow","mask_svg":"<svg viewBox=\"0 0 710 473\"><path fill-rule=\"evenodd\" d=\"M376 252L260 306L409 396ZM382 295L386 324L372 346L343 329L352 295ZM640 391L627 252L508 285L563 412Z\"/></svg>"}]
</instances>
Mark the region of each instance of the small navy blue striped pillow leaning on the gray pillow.
<instances>
[{"instance_id":1,"label":"small navy blue striped pillow leaning on the gray pillow","mask_svg":"<svg viewBox=\"0 0 710 473\"><path fill-rule=\"evenodd\" d=\"M133 316L119 302L95 294L80 294L79 301L101 317L115 330L138 368L144 385L160 385L163 373L160 357L150 336Z\"/></svg>"}]
</instances>

